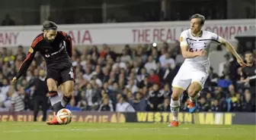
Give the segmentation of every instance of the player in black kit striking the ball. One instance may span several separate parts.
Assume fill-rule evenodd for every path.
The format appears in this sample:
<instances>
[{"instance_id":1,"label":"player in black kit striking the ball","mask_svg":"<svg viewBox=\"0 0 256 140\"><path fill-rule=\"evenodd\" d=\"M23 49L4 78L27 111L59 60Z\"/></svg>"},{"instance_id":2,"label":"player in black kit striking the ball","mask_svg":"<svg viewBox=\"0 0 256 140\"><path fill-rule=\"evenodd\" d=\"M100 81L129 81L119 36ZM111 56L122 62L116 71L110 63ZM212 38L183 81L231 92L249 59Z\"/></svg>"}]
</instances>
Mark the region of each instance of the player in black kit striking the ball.
<instances>
[{"instance_id":1,"label":"player in black kit striking the ball","mask_svg":"<svg viewBox=\"0 0 256 140\"><path fill-rule=\"evenodd\" d=\"M55 114L69 104L74 90L75 73L72 67L72 39L66 33L57 31L56 23L46 21L43 23L42 31L27 54L27 58L21 64L18 73L12 79L16 82L24 73L37 51L43 55L46 61L46 83L49 91L50 102L54 110L54 118L46 122L49 125L58 125ZM62 85L63 98L57 92L58 86Z\"/></svg>"}]
</instances>

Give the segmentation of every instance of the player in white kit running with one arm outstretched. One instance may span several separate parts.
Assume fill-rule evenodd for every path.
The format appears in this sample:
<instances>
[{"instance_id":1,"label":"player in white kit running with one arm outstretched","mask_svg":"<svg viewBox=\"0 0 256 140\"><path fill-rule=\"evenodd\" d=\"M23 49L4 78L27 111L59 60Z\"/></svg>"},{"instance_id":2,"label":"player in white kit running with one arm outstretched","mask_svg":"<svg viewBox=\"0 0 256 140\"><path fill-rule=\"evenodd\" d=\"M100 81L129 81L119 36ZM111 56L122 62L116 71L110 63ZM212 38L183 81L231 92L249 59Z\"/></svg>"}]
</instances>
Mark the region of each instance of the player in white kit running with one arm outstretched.
<instances>
[{"instance_id":1,"label":"player in white kit running with one arm outstretched","mask_svg":"<svg viewBox=\"0 0 256 140\"><path fill-rule=\"evenodd\" d=\"M190 19L190 29L184 30L181 33L181 53L185 61L172 82L170 106L173 120L169 126L179 125L178 112L181 105L179 98L184 90L187 90L190 97L190 103L188 105L190 113L194 113L196 110L196 99L201 89L203 89L204 82L208 77L208 70L210 69L208 52L210 51L211 42L218 42L226 46L235 56L238 64L246 66L245 62L229 42L217 36L216 33L202 30L204 21L205 18L203 15L194 14Z\"/></svg>"}]
</instances>

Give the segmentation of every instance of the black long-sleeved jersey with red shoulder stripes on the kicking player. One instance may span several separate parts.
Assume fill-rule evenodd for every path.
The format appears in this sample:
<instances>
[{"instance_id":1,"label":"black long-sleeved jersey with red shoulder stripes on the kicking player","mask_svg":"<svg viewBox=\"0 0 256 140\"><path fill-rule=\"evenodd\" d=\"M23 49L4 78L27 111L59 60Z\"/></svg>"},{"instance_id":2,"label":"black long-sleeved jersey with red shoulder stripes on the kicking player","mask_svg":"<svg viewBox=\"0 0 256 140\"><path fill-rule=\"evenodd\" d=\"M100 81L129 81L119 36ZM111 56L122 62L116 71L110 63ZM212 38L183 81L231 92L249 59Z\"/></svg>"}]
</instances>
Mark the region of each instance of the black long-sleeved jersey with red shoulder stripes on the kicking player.
<instances>
[{"instance_id":1,"label":"black long-sleeved jersey with red shoulder stripes on the kicking player","mask_svg":"<svg viewBox=\"0 0 256 140\"><path fill-rule=\"evenodd\" d=\"M36 52L39 51L46 61L46 67L56 67L65 69L72 67L72 39L65 32L58 31L53 42L46 42L43 38L43 33L38 35L32 42L32 45L27 54L27 58L21 64L16 78L18 79L26 73L28 67L34 59Z\"/></svg>"}]
</instances>

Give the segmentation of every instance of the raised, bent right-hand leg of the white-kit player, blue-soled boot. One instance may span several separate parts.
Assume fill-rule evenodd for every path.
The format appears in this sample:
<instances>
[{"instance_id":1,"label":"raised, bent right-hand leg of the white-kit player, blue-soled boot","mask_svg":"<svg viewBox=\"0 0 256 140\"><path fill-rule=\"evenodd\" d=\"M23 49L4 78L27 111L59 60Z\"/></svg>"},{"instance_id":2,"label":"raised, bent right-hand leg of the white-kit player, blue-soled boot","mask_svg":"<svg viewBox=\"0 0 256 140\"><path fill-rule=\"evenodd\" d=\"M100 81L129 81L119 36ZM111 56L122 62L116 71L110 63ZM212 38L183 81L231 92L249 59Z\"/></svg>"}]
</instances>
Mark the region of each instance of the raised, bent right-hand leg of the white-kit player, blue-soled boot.
<instances>
[{"instance_id":1,"label":"raised, bent right-hand leg of the white-kit player, blue-soled boot","mask_svg":"<svg viewBox=\"0 0 256 140\"><path fill-rule=\"evenodd\" d=\"M188 96L190 97L188 108L191 114L197 110L197 98L199 97L201 90L202 86L199 82L192 82L187 89Z\"/></svg>"}]
</instances>

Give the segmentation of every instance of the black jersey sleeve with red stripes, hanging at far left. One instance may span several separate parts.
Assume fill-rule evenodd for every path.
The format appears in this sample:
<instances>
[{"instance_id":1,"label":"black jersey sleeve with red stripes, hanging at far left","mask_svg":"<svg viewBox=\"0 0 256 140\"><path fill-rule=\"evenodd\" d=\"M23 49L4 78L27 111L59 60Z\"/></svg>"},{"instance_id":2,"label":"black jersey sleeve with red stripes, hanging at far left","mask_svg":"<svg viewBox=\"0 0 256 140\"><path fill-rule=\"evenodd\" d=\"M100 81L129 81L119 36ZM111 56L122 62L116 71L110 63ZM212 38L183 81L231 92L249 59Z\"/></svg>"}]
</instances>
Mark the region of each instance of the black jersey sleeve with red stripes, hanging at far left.
<instances>
[{"instance_id":1,"label":"black jersey sleeve with red stripes, hanging at far left","mask_svg":"<svg viewBox=\"0 0 256 140\"><path fill-rule=\"evenodd\" d=\"M26 73L28 67L30 67L30 64L32 63L35 54L37 53L38 43L43 40L43 36L38 36L34 41L32 42L32 45L30 46L27 57L22 62L18 73L16 74L16 78L19 79L24 73Z\"/></svg>"}]
</instances>

